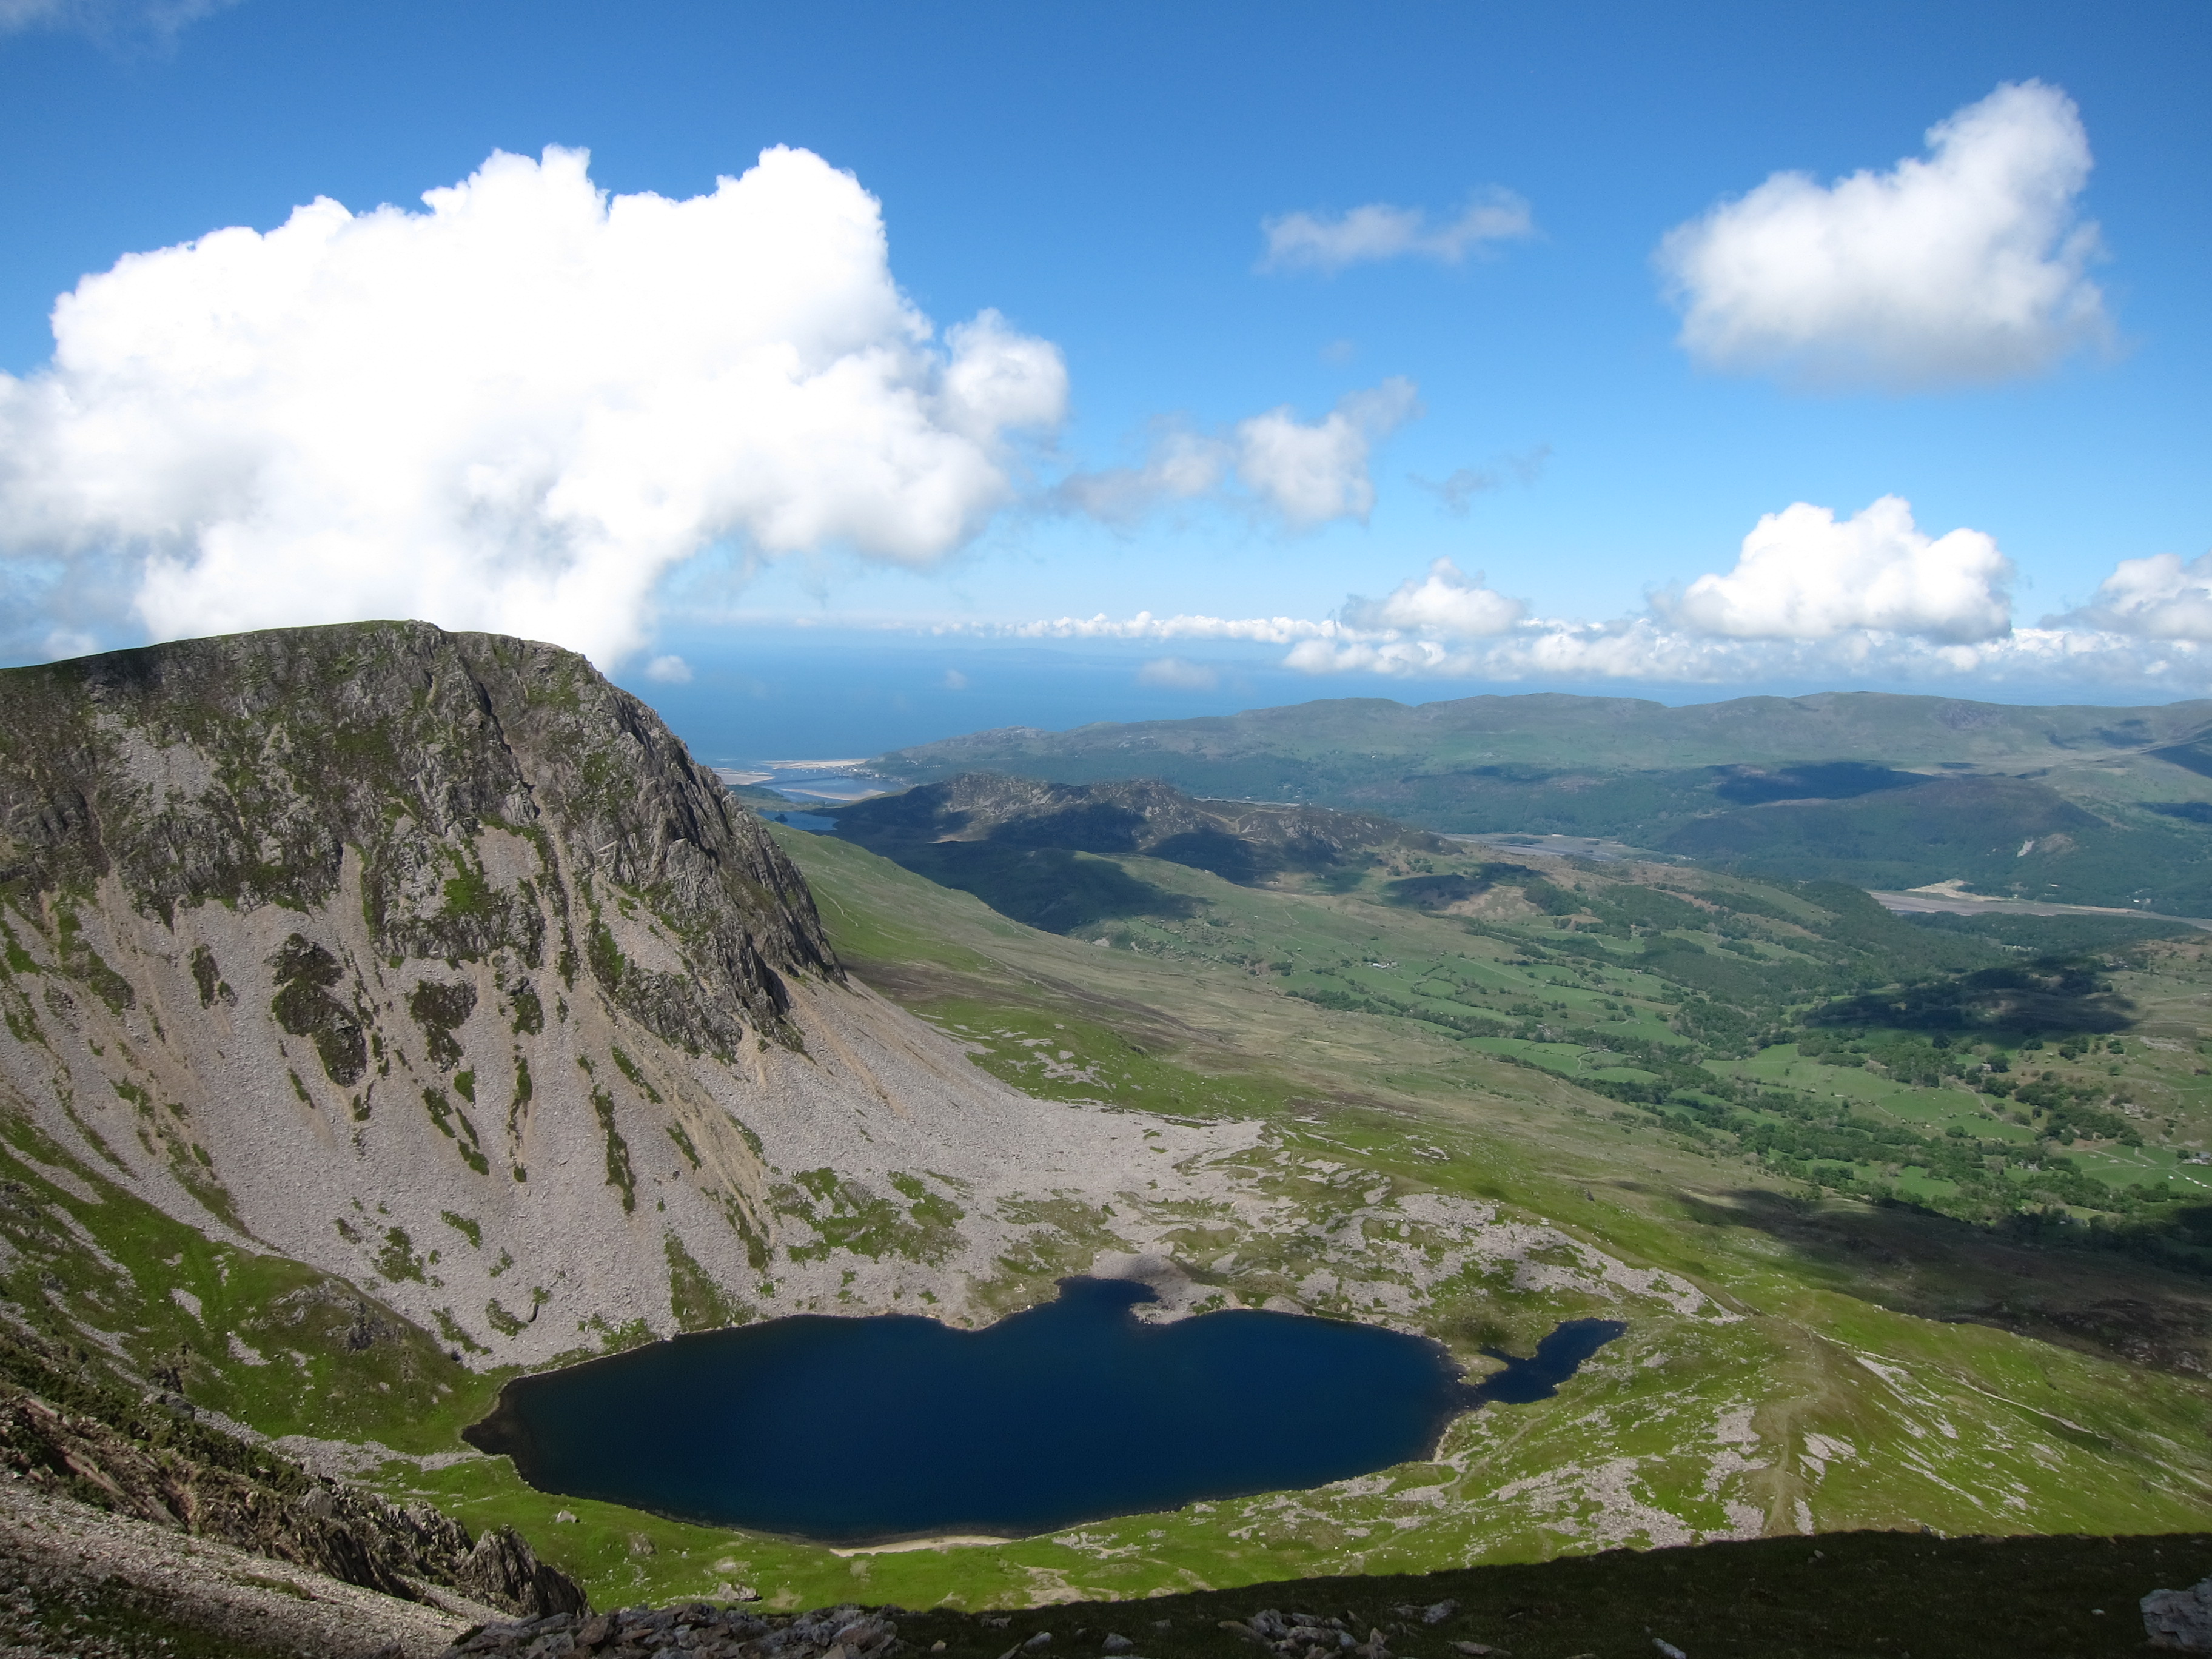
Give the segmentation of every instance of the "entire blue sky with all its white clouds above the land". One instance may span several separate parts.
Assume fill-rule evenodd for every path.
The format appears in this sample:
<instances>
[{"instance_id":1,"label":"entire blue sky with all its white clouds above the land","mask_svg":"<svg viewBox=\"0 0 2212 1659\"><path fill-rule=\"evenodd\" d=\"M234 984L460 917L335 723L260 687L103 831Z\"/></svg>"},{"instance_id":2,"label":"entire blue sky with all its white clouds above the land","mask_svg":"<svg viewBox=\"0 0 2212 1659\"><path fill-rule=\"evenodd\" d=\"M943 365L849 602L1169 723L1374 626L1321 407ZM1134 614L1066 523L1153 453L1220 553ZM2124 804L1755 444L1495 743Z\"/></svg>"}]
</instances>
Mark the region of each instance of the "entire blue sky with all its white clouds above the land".
<instances>
[{"instance_id":1,"label":"entire blue sky with all its white clouds above the land","mask_svg":"<svg viewBox=\"0 0 2212 1659\"><path fill-rule=\"evenodd\" d=\"M699 692L1026 630L1102 717L2212 681L2203 4L0 29L18 661L411 611Z\"/></svg>"}]
</instances>

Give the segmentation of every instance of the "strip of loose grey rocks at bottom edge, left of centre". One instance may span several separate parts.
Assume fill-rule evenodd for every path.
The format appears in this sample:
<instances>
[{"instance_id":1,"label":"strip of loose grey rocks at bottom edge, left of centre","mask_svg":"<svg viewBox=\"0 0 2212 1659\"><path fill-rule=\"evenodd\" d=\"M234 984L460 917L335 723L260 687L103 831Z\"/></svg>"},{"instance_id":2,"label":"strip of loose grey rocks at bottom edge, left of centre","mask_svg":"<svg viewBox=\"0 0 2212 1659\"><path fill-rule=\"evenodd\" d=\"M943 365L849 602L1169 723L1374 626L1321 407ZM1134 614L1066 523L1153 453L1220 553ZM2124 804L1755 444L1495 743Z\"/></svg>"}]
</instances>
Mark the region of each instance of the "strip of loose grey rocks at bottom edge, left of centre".
<instances>
[{"instance_id":1,"label":"strip of loose grey rocks at bottom edge, left of centre","mask_svg":"<svg viewBox=\"0 0 2212 1659\"><path fill-rule=\"evenodd\" d=\"M672 1608L555 1613L465 1630L445 1659L462 1655L597 1652L639 1659L681 1650L688 1659L863 1659L898 1641L883 1610L854 1604L772 1615L686 1601Z\"/></svg>"}]
</instances>

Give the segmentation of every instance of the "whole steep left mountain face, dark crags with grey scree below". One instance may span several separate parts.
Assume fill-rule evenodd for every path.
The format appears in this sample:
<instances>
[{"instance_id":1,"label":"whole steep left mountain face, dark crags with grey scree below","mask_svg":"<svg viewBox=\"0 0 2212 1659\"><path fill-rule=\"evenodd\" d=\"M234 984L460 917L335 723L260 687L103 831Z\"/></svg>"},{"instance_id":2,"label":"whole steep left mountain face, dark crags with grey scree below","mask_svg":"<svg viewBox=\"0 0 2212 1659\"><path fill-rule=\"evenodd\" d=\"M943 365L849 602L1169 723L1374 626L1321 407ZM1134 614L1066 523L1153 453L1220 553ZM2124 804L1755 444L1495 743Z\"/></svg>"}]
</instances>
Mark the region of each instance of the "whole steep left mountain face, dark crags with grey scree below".
<instances>
[{"instance_id":1,"label":"whole steep left mountain face, dark crags with grey scree below","mask_svg":"<svg viewBox=\"0 0 2212 1659\"><path fill-rule=\"evenodd\" d=\"M962 1170L1035 1110L845 978L644 703L425 624L0 675L0 1013L18 1124L471 1363L958 1314Z\"/></svg>"}]
</instances>

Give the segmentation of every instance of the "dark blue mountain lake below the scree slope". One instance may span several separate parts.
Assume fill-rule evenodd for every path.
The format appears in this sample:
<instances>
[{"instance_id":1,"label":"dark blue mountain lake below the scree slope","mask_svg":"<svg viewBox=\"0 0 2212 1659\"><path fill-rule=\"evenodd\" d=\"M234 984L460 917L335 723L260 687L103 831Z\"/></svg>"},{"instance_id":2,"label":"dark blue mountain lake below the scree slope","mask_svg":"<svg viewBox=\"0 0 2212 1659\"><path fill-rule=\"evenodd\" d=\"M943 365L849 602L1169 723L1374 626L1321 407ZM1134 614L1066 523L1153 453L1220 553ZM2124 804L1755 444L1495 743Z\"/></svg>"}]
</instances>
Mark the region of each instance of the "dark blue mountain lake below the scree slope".
<instances>
[{"instance_id":1,"label":"dark blue mountain lake below the scree slope","mask_svg":"<svg viewBox=\"0 0 2212 1659\"><path fill-rule=\"evenodd\" d=\"M1026 1537L1429 1455L1462 1411L1551 1396L1626 1329L1577 1318L1469 1385L1420 1336L1232 1310L1152 1325L1152 1292L960 1332L776 1318L518 1378L467 1431L540 1491L823 1544Z\"/></svg>"}]
</instances>

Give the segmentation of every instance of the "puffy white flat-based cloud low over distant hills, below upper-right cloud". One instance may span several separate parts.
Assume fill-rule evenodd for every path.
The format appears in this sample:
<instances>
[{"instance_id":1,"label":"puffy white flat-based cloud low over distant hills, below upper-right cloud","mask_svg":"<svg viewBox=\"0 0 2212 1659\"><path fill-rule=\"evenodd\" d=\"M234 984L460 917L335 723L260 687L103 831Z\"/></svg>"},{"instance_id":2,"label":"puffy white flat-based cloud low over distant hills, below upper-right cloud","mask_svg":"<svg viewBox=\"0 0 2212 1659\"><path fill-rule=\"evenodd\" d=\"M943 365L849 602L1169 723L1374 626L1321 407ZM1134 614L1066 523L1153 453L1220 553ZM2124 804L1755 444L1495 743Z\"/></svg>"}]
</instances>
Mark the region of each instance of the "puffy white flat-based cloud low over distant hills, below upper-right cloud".
<instances>
[{"instance_id":1,"label":"puffy white flat-based cloud low over distant hills, below upper-right cloud","mask_svg":"<svg viewBox=\"0 0 2212 1659\"><path fill-rule=\"evenodd\" d=\"M1874 628L1922 639L1993 639L2011 628L2013 562L1982 531L1929 538L1911 502L1882 495L1838 522L1796 502L1767 513L1736 568L1701 575L1666 608L1690 633L1834 639Z\"/></svg>"}]
</instances>

